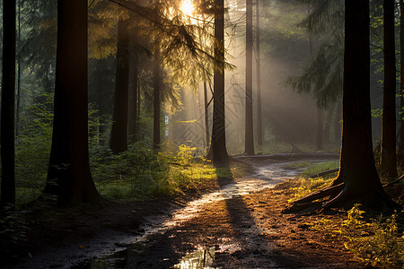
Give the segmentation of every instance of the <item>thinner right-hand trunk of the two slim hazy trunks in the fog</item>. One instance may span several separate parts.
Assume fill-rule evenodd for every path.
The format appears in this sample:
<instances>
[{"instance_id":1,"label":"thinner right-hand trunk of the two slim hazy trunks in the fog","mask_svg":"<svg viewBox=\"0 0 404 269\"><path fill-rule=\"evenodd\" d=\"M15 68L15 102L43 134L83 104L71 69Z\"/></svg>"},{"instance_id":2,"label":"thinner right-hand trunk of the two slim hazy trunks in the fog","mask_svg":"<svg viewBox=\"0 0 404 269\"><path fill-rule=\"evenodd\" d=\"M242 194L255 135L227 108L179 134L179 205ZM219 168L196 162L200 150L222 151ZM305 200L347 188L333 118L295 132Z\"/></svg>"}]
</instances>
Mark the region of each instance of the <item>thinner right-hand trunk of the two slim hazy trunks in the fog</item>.
<instances>
[{"instance_id":1,"label":"thinner right-hand trunk of the two slim hazy trunks in the fog","mask_svg":"<svg viewBox=\"0 0 404 269\"><path fill-rule=\"evenodd\" d=\"M257 55L257 142L259 152L262 152L264 129L262 128L262 106L261 106L261 59L259 47L259 1L256 1L256 55Z\"/></svg>"}]
</instances>

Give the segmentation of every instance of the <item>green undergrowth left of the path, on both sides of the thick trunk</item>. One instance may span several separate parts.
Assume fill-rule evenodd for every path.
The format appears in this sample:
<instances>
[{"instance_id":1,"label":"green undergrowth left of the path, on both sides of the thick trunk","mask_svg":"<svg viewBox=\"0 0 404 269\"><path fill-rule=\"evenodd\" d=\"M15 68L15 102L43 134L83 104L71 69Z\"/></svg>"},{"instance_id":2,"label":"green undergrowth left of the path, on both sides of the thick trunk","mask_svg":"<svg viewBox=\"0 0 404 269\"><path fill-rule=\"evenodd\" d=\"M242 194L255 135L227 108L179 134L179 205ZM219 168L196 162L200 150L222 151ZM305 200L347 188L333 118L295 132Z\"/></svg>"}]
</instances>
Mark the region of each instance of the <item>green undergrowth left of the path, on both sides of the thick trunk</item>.
<instances>
[{"instance_id":1,"label":"green undergrowth left of the path, on both sides of the thick trunk","mask_svg":"<svg viewBox=\"0 0 404 269\"><path fill-rule=\"evenodd\" d=\"M16 143L15 173L17 204L35 200L47 180L52 138L53 94L24 109L24 128ZM90 164L92 178L101 195L124 201L176 195L217 177L231 177L242 169L218 169L203 158L196 159L196 148L166 143L161 152L143 142L129 145L127 152L114 155L105 145L108 119L89 107Z\"/></svg>"}]
</instances>

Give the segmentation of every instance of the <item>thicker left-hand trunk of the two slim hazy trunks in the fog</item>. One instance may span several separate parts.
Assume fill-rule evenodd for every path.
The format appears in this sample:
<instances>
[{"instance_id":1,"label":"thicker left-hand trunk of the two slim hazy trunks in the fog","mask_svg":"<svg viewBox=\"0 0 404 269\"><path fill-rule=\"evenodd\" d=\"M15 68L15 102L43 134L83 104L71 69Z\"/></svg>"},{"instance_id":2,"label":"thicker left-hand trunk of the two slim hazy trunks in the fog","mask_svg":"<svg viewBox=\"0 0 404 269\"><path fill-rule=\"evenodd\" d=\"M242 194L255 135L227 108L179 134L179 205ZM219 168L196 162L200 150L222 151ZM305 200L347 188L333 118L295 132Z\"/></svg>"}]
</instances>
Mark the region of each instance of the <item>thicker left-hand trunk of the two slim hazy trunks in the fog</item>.
<instances>
[{"instance_id":1,"label":"thicker left-hand trunk of the two slim hazy trunks in the fog","mask_svg":"<svg viewBox=\"0 0 404 269\"><path fill-rule=\"evenodd\" d=\"M254 155L254 129L252 126L252 0L246 0L246 70L245 70L245 155Z\"/></svg>"}]
</instances>

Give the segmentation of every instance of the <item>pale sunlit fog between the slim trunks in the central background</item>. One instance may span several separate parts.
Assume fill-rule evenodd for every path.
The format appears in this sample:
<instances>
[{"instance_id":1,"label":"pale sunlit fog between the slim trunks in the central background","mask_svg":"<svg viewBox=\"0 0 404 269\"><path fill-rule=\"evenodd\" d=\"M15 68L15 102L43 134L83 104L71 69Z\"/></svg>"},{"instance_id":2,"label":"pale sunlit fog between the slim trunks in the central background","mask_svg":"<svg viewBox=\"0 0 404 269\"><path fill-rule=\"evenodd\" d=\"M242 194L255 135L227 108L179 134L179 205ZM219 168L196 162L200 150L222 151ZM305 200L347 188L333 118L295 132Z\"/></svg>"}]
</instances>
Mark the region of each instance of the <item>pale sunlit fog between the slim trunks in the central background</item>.
<instances>
[{"instance_id":1,"label":"pale sunlit fog between the slim trunks in the central background","mask_svg":"<svg viewBox=\"0 0 404 269\"><path fill-rule=\"evenodd\" d=\"M245 3L233 4L226 18L225 43L227 60L234 66L225 71L225 118L227 149L230 154L241 154L244 148L245 123ZM255 8L254 8L255 11ZM292 14L290 14L292 12ZM261 102L263 118L263 147L260 153L291 152L292 144L302 151L316 151L317 109L310 93L297 93L287 83L292 76L300 76L310 64L311 49L308 34L298 27L307 15L303 4L285 4L274 1L260 10ZM257 44L256 14L254 15L253 51L253 115L254 139L257 141ZM341 85L342 87L342 85ZM208 101L211 89L207 85ZM177 143L206 148L204 85L197 90L184 89L183 108L169 124L170 138ZM341 89L342 91L342 89ZM335 141L334 122L336 102L331 117L330 141L324 149L338 151L339 137ZM322 109L324 120L329 109ZM338 122L340 119L338 119ZM212 128L212 103L209 106L209 129ZM339 123L340 124L340 123ZM203 151L201 151L203 153Z\"/></svg>"}]
</instances>

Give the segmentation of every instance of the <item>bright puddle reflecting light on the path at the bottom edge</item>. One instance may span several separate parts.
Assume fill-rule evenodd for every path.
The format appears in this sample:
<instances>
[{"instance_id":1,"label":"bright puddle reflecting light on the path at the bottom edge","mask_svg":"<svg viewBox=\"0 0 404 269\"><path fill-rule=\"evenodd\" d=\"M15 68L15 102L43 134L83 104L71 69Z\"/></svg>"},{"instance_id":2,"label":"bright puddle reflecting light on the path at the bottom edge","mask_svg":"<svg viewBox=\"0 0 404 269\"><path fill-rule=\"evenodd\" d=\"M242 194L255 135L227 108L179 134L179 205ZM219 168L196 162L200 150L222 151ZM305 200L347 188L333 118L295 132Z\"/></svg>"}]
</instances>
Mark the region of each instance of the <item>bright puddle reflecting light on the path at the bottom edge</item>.
<instances>
[{"instance_id":1,"label":"bright puddle reflecting light on the path at the bottom edge","mask_svg":"<svg viewBox=\"0 0 404 269\"><path fill-rule=\"evenodd\" d=\"M184 256L180 264L174 265L178 269L202 269L209 268L215 260L215 247L201 249L197 252Z\"/></svg>"}]
</instances>

